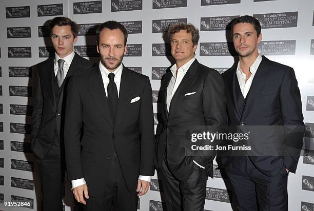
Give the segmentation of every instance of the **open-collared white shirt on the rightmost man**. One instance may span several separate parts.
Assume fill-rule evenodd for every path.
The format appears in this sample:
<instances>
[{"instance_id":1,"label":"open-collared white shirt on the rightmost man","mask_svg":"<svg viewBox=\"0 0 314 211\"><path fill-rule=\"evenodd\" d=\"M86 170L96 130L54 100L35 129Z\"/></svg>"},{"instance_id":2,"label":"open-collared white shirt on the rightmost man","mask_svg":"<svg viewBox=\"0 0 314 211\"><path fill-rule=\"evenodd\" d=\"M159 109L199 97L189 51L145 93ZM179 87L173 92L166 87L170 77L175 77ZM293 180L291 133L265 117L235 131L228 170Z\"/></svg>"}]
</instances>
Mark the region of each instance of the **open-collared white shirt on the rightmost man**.
<instances>
[{"instance_id":1,"label":"open-collared white shirt on the rightmost man","mask_svg":"<svg viewBox=\"0 0 314 211\"><path fill-rule=\"evenodd\" d=\"M242 70L240 69L240 61L238 62L237 77L238 77L238 81L239 81L239 85L240 85L240 90L241 90L241 93L242 93L244 99L246 98L246 95L251 88L253 78L256 74L257 69L259 68L259 66L261 64L261 61L262 61L262 56L259 54L258 57L255 59L254 63L250 67L251 75L247 79L246 82L245 82L246 74L243 73Z\"/></svg>"}]
</instances>

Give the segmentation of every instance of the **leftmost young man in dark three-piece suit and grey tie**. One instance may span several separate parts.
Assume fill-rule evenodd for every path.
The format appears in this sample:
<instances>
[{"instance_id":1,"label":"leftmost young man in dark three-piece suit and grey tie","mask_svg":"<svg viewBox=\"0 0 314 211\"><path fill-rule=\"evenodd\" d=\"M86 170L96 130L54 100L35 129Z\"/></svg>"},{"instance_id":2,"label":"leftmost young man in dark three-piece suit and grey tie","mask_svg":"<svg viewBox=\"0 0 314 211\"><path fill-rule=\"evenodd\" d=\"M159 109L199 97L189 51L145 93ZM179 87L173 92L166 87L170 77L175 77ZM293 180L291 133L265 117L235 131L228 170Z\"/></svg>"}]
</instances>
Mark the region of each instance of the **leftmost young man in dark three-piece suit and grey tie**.
<instances>
[{"instance_id":1,"label":"leftmost young man in dark three-piece suit and grey tie","mask_svg":"<svg viewBox=\"0 0 314 211\"><path fill-rule=\"evenodd\" d=\"M64 92L68 78L93 66L74 53L77 25L67 17L50 23L55 56L37 65L32 114L32 151L38 162L42 209L63 210L64 196Z\"/></svg>"}]
</instances>

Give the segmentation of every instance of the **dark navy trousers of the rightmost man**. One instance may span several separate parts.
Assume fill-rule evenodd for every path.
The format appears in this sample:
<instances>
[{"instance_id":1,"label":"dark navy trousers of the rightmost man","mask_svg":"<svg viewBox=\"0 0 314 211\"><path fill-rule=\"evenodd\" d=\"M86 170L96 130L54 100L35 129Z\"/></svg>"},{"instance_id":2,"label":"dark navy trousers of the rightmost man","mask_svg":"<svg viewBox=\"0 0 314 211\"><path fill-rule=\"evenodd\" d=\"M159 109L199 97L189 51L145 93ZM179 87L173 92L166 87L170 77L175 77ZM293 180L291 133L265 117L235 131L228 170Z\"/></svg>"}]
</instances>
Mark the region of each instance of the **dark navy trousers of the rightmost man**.
<instances>
[{"instance_id":1,"label":"dark navy trousers of the rightmost man","mask_svg":"<svg viewBox=\"0 0 314 211\"><path fill-rule=\"evenodd\" d=\"M234 157L229 178L240 211L288 210L287 177L283 169L276 176L263 174L249 157Z\"/></svg>"}]
</instances>

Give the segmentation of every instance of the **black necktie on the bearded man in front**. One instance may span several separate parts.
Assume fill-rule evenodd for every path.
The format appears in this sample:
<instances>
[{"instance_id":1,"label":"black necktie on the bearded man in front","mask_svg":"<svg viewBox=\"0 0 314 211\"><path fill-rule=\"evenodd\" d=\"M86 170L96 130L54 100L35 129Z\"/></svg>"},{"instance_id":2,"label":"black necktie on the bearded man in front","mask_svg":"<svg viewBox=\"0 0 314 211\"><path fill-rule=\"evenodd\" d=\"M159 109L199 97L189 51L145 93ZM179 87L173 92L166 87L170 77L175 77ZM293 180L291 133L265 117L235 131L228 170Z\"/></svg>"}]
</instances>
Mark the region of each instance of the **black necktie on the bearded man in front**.
<instances>
[{"instance_id":1,"label":"black necktie on the bearded man in front","mask_svg":"<svg viewBox=\"0 0 314 211\"><path fill-rule=\"evenodd\" d=\"M117 89L116 89L116 85L114 82L114 73L109 73L108 78L109 78L109 83L108 83L108 87L107 87L108 105L109 105L109 110L110 110L110 114L112 117L112 121L114 123L115 115L116 115L116 109L117 109L117 100L118 100Z\"/></svg>"}]
</instances>

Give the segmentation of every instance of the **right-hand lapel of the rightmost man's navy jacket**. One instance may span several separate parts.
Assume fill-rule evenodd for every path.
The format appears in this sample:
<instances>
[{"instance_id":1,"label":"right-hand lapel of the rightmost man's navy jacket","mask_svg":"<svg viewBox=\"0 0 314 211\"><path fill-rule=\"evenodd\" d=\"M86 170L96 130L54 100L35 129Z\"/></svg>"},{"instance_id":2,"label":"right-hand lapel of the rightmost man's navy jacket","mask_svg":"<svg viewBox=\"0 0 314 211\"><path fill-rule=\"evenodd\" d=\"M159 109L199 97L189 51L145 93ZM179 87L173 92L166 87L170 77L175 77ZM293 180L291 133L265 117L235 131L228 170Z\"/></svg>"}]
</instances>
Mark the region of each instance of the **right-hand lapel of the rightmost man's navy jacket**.
<instances>
[{"instance_id":1,"label":"right-hand lapel of the rightmost man's navy jacket","mask_svg":"<svg viewBox=\"0 0 314 211\"><path fill-rule=\"evenodd\" d=\"M256 72L256 75L253 78L250 90L246 95L246 103L244 105L242 114L244 114L245 108L249 107L248 105L252 101L253 96L257 95L260 92L260 90L263 88L263 86L266 84L266 81L268 80L270 71L268 61L269 60L263 56L261 64Z\"/></svg>"}]
</instances>

